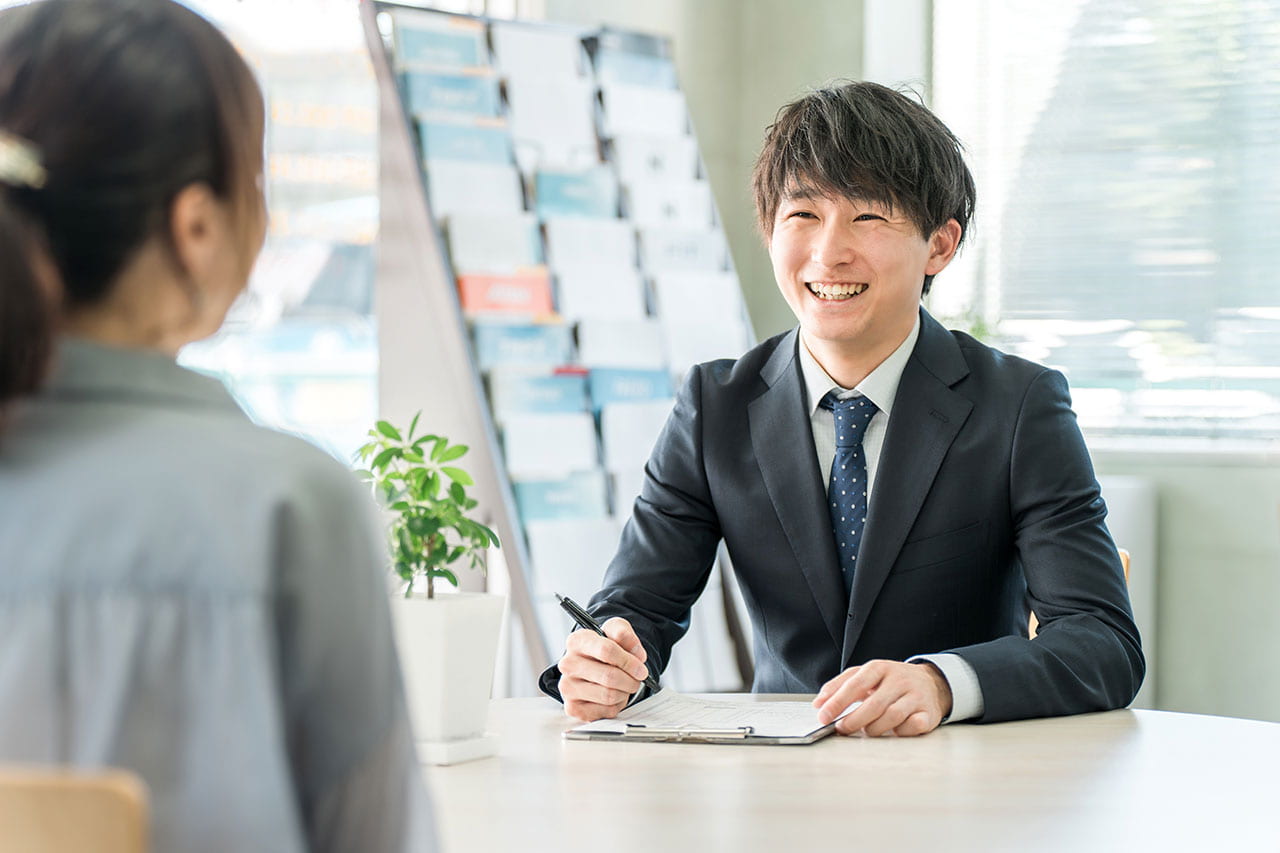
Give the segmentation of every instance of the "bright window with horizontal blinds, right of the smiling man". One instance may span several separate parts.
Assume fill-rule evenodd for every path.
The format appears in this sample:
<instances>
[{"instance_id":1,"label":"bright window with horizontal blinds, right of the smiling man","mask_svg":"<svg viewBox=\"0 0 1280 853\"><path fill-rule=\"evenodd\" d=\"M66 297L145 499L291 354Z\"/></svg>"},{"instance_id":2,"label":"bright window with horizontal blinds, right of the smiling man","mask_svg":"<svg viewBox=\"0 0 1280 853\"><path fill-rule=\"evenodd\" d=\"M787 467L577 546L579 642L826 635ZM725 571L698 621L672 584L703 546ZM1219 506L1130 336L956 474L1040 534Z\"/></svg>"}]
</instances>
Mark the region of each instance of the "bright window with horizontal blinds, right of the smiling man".
<instances>
[{"instance_id":1,"label":"bright window with horizontal blinds, right of the smiling man","mask_svg":"<svg viewBox=\"0 0 1280 853\"><path fill-rule=\"evenodd\" d=\"M979 197L937 315L1091 437L1280 434L1280 3L937 3L933 95Z\"/></svg>"}]
</instances>

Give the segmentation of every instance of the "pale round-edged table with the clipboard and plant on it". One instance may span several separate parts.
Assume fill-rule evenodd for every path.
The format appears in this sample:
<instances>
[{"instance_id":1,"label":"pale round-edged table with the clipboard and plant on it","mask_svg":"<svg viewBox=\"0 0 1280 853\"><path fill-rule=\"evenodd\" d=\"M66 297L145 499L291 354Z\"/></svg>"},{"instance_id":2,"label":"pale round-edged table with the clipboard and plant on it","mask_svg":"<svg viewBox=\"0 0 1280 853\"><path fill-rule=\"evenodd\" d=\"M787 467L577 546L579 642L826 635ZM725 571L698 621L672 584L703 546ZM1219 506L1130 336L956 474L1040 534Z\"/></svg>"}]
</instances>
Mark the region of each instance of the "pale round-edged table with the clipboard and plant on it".
<instances>
[{"instance_id":1,"label":"pale round-edged table with the clipboard and plant on it","mask_svg":"<svg viewBox=\"0 0 1280 853\"><path fill-rule=\"evenodd\" d=\"M741 697L769 698L803 697ZM1112 711L809 747L566 742L572 725L550 699L494 701L498 756L426 771L444 849L1280 850L1280 724Z\"/></svg>"}]
</instances>

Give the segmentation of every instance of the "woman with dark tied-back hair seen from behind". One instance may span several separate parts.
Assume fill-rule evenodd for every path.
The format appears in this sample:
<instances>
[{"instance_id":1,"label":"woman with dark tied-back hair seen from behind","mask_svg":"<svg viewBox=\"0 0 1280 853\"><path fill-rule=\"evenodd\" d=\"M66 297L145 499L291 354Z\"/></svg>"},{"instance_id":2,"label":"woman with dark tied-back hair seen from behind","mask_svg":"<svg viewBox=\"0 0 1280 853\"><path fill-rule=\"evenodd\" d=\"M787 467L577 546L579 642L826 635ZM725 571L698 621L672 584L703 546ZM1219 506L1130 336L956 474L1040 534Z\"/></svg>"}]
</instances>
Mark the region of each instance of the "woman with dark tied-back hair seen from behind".
<instances>
[{"instance_id":1,"label":"woman with dark tied-back hair seen from behind","mask_svg":"<svg viewBox=\"0 0 1280 853\"><path fill-rule=\"evenodd\" d=\"M367 497L175 362L262 123L177 3L0 12L0 762L132 768L156 850L434 849Z\"/></svg>"}]
</instances>

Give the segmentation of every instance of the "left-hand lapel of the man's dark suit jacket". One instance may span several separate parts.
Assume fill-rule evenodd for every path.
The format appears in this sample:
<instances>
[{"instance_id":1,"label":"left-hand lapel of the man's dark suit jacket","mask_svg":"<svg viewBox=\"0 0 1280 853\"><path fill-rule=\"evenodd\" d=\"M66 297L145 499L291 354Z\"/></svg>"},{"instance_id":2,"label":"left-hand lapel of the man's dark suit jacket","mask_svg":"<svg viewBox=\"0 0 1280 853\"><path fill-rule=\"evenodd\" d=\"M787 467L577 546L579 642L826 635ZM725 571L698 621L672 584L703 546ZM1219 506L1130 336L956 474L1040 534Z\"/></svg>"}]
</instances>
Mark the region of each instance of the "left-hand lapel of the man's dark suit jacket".
<instances>
[{"instance_id":1,"label":"left-hand lapel of the man's dark suit jacket","mask_svg":"<svg viewBox=\"0 0 1280 853\"><path fill-rule=\"evenodd\" d=\"M792 330L760 371L768 389L748 405L748 424L773 511L831 631L832 643L838 647L845 635L847 602L831 535L826 489L818 471L813 428L805 414L796 339L797 332Z\"/></svg>"}]
</instances>

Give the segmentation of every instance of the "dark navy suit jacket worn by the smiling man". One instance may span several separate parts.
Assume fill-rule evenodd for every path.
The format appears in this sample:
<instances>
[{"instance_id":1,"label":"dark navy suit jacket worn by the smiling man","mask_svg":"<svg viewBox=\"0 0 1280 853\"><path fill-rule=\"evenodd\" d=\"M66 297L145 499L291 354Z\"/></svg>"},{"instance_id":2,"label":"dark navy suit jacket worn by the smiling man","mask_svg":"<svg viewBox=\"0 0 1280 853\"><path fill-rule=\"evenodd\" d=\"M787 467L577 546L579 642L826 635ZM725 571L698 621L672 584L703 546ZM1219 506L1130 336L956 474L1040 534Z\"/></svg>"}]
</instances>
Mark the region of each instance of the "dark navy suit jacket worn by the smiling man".
<instances>
[{"instance_id":1,"label":"dark navy suit jacket worn by the smiling man","mask_svg":"<svg viewBox=\"0 0 1280 853\"><path fill-rule=\"evenodd\" d=\"M954 652L983 721L1128 704L1142 647L1065 378L922 310L846 597L796 346L792 329L690 373L589 610L630 620L660 672L723 539L756 692ZM558 679L550 667L543 689L558 695Z\"/></svg>"}]
</instances>

